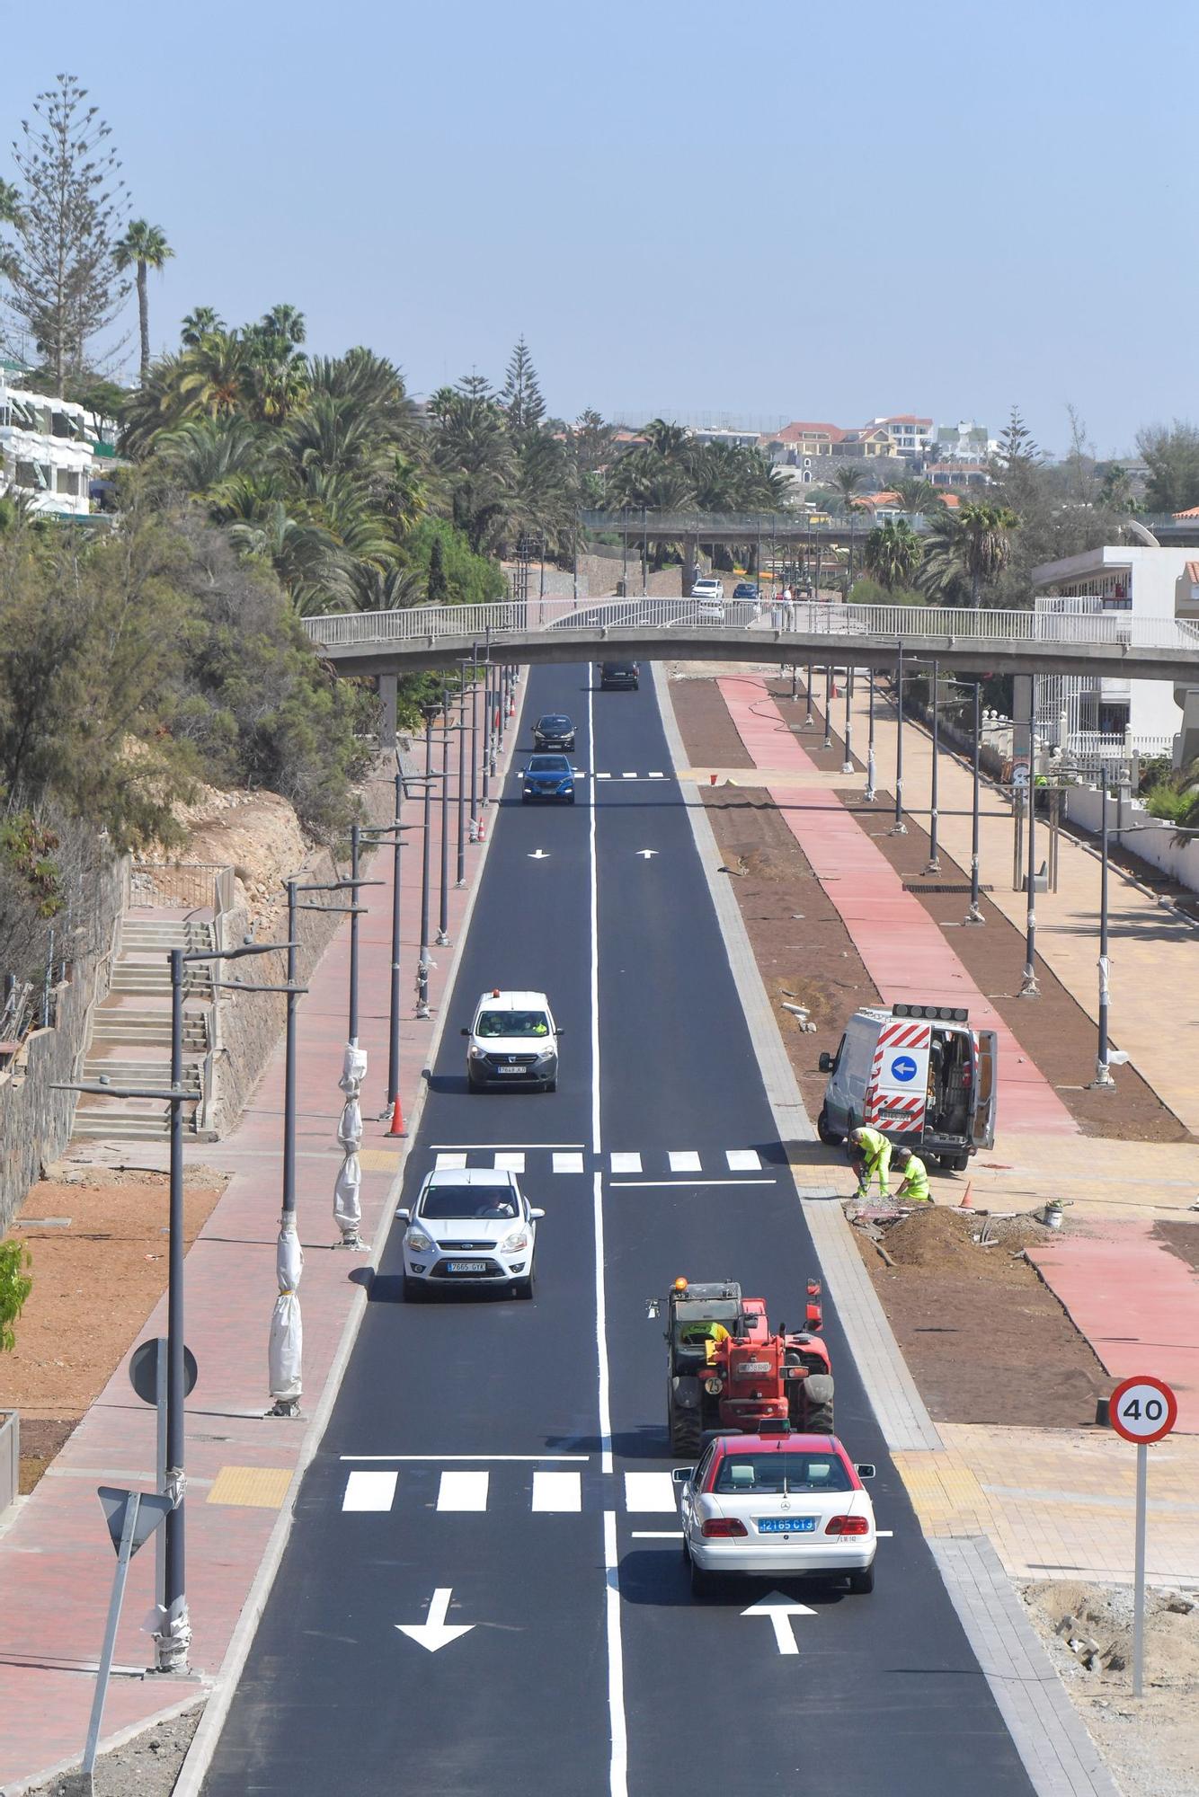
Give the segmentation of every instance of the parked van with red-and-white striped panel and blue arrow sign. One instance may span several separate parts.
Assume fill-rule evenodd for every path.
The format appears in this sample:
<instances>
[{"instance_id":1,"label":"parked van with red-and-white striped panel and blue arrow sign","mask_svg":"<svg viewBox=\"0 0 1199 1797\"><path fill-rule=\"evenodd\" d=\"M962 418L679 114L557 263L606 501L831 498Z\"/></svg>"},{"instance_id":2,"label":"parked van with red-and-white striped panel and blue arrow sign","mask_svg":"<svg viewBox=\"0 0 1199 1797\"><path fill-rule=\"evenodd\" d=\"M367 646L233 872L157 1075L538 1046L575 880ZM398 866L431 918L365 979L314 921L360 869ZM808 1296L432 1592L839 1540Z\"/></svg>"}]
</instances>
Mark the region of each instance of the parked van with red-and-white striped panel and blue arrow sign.
<instances>
[{"instance_id":1,"label":"parked van with red-and-white striped panel and blue arrow sign","mask_svg":"<svg viewBox=\"0 0 1199 1797\"><path fill-rule=\"evenodd\" d=\"M822 1141L841 1143L859 1123L892 1141L935 1154L962 1172L976 1148L994 1145L994 1030L971 1030L956 1005L865 1006L845 1026L816 1120Z\"/></svg>"}]
</instances>

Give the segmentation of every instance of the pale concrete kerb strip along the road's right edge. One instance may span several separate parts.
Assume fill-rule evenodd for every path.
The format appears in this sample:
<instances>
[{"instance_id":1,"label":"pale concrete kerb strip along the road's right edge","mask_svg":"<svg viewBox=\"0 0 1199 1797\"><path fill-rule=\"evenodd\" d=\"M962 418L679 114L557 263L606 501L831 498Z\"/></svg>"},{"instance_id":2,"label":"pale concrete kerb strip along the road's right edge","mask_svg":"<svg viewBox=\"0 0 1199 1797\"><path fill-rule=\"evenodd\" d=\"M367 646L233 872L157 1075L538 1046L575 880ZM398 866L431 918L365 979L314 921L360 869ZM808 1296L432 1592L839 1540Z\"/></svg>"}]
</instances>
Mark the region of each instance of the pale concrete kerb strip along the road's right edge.
<instances>
[{"instance_id":1,"label":"pale concrete kerb strip along the road's right edge","mask_svg":"<svg viewBox=\"0 0 1199 1797\"><path fill-rule=\"evenodd\" d=\"M669 677L660 665L654 665L654 685L667 746L678 771L688 762L671 704ZM780 1141L793 1139L784 1132L784 1123L791 1120L802 1121L804 1134L811 1139L813 1129L807 1111L753 960L741 907L717 873L721 855L703 809L703 798L692 782L679 780L679 789L730 965L750 1019ZM777 1100L780 1100L778 1105ZM827 1199L823 1202L805 1199L798 1181L796 1195L813 1231L829 1287L836 1294L838 1314L848 1337L854 1364L863 1377L866 1396L888 1447L944 1452L944 1441L908 1371L841 1206ZM1098 1748L1050 1666L1032 1623L1023 1614L994 1545L989 1540L929 1540L929 1547L949 1592L949 1601L1037 1797L1120 1797Z\"/></svg>"}]
</instances>

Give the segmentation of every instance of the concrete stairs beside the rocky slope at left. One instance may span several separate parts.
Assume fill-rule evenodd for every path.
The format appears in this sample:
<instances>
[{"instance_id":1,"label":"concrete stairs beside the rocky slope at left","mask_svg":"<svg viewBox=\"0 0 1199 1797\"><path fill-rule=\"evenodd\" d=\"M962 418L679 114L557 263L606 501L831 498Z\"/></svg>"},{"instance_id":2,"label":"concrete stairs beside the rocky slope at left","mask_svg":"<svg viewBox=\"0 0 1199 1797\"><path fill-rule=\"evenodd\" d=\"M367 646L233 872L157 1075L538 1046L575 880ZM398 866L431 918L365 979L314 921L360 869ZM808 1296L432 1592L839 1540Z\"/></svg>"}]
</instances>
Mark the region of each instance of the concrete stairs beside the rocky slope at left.
<instances>
[{"instance_id":1,"label":"concrete stairs beside the rocky slope at left","mask_svg":"<svg viewBox=\"0 0 1199 1797\"><path fill-rule=\"evenodd\" d=\"M212 925L144 911L120 925L120 951L108 997L92 1015L92 1033L83 1062L88 1084L156 1087L171 1084L171 949L205 952L214 947ZM187 970L183 999L183 1087L203 1093L205 1058L212 1048L214 988L209 967ZM183 1130L196 1136L200 1105L183 1111ZM171 1111L153 1098L102 1098L81 1094L75 1105L75 1138L113 1141L164 1139Z\"/></svg>"}]
</instances>

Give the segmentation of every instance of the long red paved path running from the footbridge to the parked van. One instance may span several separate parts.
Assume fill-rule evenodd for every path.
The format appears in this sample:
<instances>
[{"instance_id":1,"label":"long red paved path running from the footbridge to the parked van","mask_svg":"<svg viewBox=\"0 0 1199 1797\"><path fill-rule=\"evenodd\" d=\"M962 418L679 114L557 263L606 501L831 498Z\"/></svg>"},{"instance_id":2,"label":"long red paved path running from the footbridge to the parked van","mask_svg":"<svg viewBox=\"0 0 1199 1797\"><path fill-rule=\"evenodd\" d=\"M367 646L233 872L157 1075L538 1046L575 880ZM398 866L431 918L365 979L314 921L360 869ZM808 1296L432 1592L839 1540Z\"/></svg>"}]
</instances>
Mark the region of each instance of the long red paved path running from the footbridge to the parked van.
<instances>
[{"instance_id":1,"label":"long red paved path running from the footbridge to the parked van","mask_svg":"<svg viewBox=\"0 0 1199 1797\"><path fill-rule=\"evenodd\" d=\"M717 686L755 767L816 773L762 679L733 676ZM793 787L768 791L854 938L883 1001L969 1006L976 1030L999 1035L999 1129L1077 1136L1079 1127L1053 1087L836 792L813 783L800 801Z\"/></svg>"}]
</instances>

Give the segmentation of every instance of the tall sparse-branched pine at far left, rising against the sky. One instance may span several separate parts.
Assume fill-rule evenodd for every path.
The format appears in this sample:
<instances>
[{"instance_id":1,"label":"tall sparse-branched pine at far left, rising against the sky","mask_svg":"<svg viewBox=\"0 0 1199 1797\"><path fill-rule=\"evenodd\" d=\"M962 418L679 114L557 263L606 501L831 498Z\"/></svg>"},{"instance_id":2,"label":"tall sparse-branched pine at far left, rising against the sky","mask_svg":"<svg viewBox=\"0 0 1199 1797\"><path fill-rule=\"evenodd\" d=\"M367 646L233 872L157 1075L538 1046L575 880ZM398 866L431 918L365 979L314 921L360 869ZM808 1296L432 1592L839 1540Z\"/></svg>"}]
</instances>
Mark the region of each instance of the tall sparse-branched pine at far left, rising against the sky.
<instances>
[{"instance_id":1,"label":"tall sparse-branched pine at far left, rising against the sky","mask_svg":"<svg viewBox=\"0 0 1199 1797\"><path fill-rule=\"evenodd\" d=\"M75 75L59 75L13 146L23 192L4 268L9 311L32 334L56 394L83 372L86 340L113 322L129 291L113 262L126 214L120 160L86 92Z\"/></svg>"}]
</instances>

